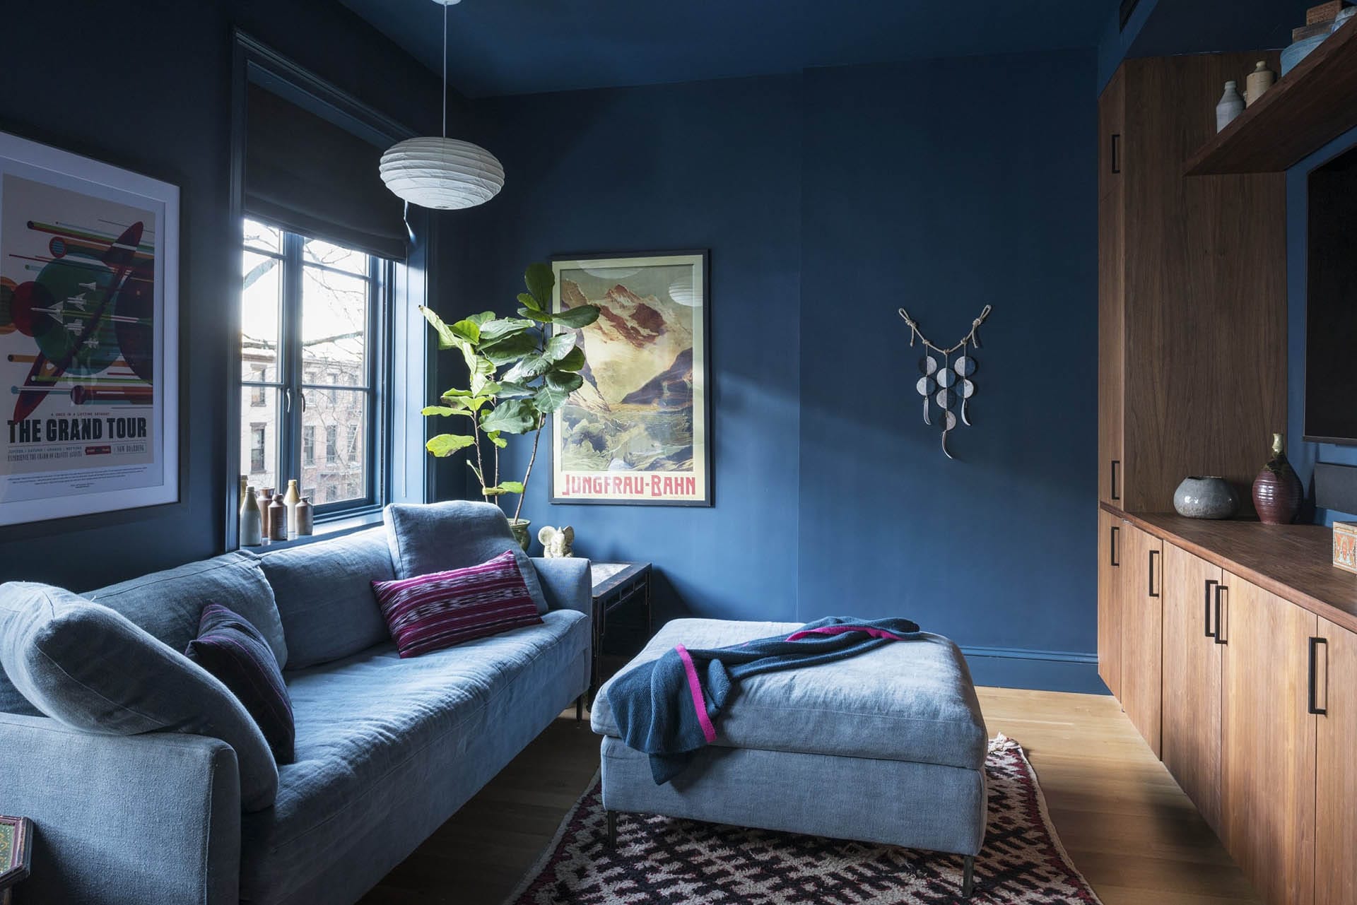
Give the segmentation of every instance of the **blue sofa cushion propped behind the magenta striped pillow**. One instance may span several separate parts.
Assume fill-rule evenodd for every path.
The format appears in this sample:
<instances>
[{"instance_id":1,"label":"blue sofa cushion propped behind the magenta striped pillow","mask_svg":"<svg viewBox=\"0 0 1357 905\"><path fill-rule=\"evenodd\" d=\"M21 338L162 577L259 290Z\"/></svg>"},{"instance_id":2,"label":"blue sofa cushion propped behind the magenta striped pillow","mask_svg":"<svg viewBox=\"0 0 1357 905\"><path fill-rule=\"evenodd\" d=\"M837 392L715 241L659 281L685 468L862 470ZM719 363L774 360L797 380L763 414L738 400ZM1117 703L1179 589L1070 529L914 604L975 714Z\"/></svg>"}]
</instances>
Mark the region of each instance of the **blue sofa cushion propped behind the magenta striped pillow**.
<instances>
[{"instance_id":1,"label":"blue sofa cushion propped behind the magenta striped pillow","mask_svg":"<svg viewBox=\"0 0 1357 905\"><path fill-rule=\"evenodd\" d=\"M547 598L537 570L509 531L509 520L491 503L453 499L442 503L395 503L383 513L396 578L476 566L512 551L537 612Z\"/></svg>"}]
</instances>

